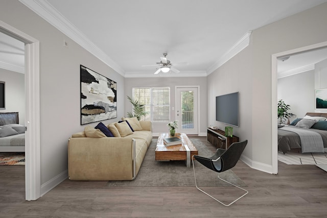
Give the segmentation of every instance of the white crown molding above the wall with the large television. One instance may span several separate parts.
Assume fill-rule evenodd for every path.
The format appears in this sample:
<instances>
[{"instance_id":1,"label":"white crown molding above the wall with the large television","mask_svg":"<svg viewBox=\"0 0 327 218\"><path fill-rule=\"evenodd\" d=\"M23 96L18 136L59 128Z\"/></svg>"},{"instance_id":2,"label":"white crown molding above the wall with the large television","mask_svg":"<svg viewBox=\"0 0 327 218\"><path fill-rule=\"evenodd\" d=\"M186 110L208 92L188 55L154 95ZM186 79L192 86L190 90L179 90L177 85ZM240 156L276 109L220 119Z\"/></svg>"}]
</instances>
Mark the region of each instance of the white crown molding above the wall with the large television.
<instances>
[{"instance_id":1,"label":"white crown molding above the wall with the large television","mask_svg":"<svg viewBox=\"0 0 327 218\"><path fill-rule=\"evenodd\" d=\"M232 57L240 53L243 49L245 49L250 43L250 36L252 31L247 32L244 36L242 36L219 60L214 63L211 67L207 69L207 75L210 75L213 71L218 69Z\"/></svg>"}]
</instances>

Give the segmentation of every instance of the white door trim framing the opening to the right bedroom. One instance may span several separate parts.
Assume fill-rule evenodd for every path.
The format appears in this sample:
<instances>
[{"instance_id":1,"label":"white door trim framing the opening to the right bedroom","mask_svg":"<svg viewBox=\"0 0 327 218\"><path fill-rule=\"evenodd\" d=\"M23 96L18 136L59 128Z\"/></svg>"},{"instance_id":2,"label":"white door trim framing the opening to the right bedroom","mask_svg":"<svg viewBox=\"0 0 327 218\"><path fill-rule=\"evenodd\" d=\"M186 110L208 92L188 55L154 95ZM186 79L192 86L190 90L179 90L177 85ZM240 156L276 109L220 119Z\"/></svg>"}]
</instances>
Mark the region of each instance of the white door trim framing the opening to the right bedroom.
<instances>
[{"instance_id":1,"label":"white door trim framing the opening to the right bedroom","mask_svg":"<svg viewBox=\"0 0 327 218\"><path fill-rule=\"evenodd\" d=\"M277 58L327 47L327 41L271 55L271 152L272 173L278 173L277 143Z\"/></svg>"}]
</instances>

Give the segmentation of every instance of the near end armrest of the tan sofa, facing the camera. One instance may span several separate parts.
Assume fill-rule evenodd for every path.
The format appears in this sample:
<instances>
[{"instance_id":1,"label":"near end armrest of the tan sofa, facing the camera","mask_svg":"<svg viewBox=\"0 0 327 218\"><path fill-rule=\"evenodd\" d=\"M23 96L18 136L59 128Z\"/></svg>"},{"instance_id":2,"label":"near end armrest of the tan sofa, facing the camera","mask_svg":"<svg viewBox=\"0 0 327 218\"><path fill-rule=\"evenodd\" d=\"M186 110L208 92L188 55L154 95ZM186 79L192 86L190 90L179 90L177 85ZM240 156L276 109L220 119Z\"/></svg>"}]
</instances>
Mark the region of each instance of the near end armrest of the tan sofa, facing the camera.
<instances>
[{"instance_id":1,"label":"near end armrest of the tan sofa, facing the camera","mask_svg":"<svg viewBox=\"0 0 327 218\"><path fill-rule=\"evenodd\" d=\"M132 138L69 138L68 177L71 180L132 180L135 141Z\"/></svg>"}]
</instances>

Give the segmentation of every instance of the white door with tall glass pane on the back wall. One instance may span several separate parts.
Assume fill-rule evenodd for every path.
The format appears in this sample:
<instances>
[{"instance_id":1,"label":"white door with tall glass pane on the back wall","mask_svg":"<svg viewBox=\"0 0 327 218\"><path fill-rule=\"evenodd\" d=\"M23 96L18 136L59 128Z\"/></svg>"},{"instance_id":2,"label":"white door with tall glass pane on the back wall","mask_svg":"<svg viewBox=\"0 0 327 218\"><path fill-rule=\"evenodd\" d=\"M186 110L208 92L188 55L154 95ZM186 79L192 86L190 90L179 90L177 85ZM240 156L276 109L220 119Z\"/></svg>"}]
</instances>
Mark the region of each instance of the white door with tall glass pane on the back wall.
<instances>
[{"instance_id":1,"label":"white door with tall glass pane on the back wall","mask_svg":"<svg viewBox=\"0 0 327 218\"><path fill-rule=\"evenodd\" d=\"M186 135L199 134L198 86L176 87L176 118L179 131Z\"/></svg>"}]
</instances>

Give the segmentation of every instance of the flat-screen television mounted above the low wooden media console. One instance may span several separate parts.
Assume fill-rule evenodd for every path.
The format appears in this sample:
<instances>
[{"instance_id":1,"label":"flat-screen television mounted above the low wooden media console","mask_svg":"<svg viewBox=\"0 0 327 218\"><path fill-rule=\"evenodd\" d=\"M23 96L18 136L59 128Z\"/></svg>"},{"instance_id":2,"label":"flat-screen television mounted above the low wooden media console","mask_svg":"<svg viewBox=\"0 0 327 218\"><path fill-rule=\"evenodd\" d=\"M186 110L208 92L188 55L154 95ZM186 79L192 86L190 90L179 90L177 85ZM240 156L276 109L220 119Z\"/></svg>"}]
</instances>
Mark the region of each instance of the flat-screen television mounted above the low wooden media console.
<instances>
[{"instance_id":1,"label":"flat-screen television mounted above the low wooden media console","mask_svg":"<svg viewBox=\"0 0 327 218\"><path fill-rule=\"evenodd\" d=\"M216 120L239 126L239 92L216 96Z\"/></svg>"}]
</instances>

